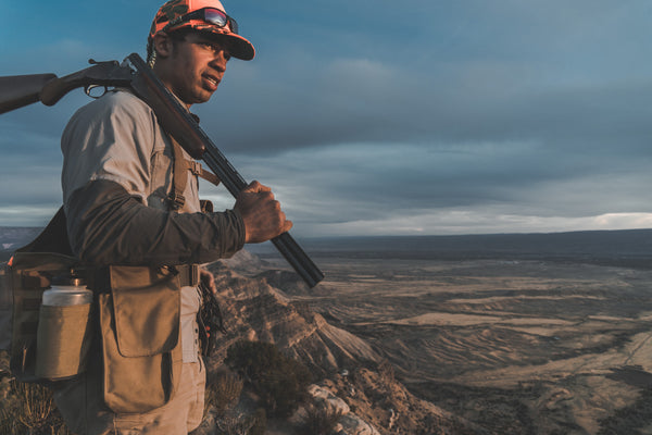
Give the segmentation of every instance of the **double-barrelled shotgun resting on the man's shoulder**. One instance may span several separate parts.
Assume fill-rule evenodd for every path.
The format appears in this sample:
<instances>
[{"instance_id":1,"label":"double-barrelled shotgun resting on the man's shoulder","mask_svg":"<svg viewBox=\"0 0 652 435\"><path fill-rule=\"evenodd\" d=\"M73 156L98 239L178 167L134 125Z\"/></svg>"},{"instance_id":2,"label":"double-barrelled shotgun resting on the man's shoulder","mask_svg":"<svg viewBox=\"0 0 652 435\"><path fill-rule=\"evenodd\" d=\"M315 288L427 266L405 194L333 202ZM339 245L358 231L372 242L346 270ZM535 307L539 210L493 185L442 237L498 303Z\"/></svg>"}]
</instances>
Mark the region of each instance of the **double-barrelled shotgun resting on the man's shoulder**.
<instances>
[{"instance_id":1,"label":"double-barrelled shotgun resting on the man's shoulder","mask_svg":"<svg viewBox=\"0 0 652 435\"><path fill-rule=\"evenodd\" d=\"M131 53L122 64L117 61L96 62L92 59L89 63L92 66L64 77L54 74L0 77L0 114L37 101L53 105L79 87L84 87L87 95L96 87L128 87L152 108L163 129L193 159L203 160L234 197L248 185L140 55ZM272 243L309 287L314 287L324 278L319 268L289 233L273 238Z\"/></svg>"}]
</instances>

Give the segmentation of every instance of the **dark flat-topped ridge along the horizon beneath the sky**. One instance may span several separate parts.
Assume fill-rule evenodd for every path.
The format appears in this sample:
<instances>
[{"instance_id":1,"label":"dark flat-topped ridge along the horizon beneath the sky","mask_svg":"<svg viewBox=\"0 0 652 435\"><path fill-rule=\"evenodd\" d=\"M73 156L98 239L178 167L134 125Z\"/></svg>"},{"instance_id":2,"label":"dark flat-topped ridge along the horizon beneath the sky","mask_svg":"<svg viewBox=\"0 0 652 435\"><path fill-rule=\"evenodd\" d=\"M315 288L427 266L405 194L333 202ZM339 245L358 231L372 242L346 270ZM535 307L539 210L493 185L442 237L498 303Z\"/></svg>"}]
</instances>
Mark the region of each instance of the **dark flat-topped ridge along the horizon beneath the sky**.
<instances>
[{"instance_id":1,"label":"dark flat-topped ridge along the horizon beneath the sky","mask_svg":"<svg viewBox=\"0 0 652 435\"><path fill-rule=\"evenodd\" d=\"M309 253L404 260L511 259L652 268L652 229L453 236L337 237L301 240ZM252 247L267 253L272 247Z\"/></svg>"}]
</instances>

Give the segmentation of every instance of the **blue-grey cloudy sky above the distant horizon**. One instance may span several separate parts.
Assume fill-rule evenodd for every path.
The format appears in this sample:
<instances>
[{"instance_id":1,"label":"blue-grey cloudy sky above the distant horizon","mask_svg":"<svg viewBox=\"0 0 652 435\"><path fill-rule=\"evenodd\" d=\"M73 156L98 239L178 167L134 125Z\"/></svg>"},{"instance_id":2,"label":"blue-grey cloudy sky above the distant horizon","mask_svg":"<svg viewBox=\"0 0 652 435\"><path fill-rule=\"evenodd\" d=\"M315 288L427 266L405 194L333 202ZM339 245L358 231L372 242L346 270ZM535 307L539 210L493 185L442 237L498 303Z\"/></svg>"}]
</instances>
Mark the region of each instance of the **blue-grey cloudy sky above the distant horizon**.
<instances>
[{"instance_id":1,"label":"blue-grey cloudy sky above the distant horizon","mask_svg":"<svg viewBox=\"0 0 652 435\"><path fill-rule=\"evenodd\" d=\"M2 2L0 76L145 57L160 1ZM253 42L201 125L292 234L652 227L652 2L224 0ZM60 135L89 101L0 115L0 226L61 204ZM224 188L201 185L217 208Z\"/></svg>"}]
</instances>

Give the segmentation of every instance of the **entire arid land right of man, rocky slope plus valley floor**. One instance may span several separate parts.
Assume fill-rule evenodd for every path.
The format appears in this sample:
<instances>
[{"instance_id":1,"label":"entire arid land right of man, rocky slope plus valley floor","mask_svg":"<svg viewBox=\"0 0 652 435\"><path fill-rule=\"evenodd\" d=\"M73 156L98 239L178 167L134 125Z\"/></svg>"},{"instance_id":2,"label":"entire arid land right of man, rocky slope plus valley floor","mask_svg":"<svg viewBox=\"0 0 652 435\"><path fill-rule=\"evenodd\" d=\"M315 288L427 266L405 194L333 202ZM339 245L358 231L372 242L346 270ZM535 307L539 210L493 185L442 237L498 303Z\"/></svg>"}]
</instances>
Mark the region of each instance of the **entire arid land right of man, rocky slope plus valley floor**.
<instances>
[{"instance_id":1,"label":"entire arid land right of man, rocky slope plus valley floor","mask_svg":"<svg viewBox=\"0 0 652 435\"><path fill-rule=\"evenodd\" d=\"M275 343L312 370L315 401L343 403L349 434L652 433L651 270L313 259L312 290L276 257L210 265L227 328L211 370L238 339Z\"/></svg>"}]
</instances>

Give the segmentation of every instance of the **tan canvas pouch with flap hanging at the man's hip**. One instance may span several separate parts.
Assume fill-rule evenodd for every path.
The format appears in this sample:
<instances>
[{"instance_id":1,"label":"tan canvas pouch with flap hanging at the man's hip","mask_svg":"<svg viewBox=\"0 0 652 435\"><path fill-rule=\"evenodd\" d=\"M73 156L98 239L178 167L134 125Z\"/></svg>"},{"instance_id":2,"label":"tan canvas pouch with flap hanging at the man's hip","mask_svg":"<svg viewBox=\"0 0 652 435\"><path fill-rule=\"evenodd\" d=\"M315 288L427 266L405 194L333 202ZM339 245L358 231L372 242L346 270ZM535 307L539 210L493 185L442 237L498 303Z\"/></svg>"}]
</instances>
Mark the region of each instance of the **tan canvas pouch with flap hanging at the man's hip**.
<instances>
[{"instance_id":1,"label":"tan canvas pouch with flap hanging at the man's hip","mask_svg":"<svg viewBox=\"0 0 652 435\"><path fill-rule=\"evenodd\" d=\"M179 278L110 266L110 283L99 295L104 401L114 412L147 412L170 401L180 376Z\"/></svg>"}]
</instances>

